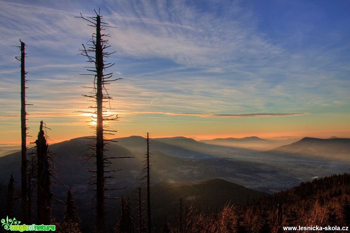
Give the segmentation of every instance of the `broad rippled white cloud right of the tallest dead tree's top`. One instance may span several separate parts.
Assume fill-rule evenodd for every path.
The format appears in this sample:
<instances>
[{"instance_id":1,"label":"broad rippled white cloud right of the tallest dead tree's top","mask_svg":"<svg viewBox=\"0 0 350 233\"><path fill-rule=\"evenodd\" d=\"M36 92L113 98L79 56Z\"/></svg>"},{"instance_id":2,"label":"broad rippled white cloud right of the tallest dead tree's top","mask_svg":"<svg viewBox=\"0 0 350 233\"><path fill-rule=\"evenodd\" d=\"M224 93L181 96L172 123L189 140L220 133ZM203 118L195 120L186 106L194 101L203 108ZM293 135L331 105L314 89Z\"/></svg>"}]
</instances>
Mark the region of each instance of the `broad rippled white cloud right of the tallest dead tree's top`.
<instances>
[{"instance_id":1,"label":"broad rippled white cloud right of the tallest dead tree's top","mask_svg":"<svg viewBox=\"0 0 350 233\"><path fill-rule=\"evenodd\" d=\"M123 33L112 31L112 40L121 53L135 57L163 57L186 65L243 64L266 62L279 56L281 48L258 36L251 12L232 3L224 10L236 18L215 17L182 1L131 2L113 8ZM213 4L214 5L214 4ZM209 6L210 7L210 6ZM142 38L139 40L138 38Z\"/></svg>"}]
</instances>

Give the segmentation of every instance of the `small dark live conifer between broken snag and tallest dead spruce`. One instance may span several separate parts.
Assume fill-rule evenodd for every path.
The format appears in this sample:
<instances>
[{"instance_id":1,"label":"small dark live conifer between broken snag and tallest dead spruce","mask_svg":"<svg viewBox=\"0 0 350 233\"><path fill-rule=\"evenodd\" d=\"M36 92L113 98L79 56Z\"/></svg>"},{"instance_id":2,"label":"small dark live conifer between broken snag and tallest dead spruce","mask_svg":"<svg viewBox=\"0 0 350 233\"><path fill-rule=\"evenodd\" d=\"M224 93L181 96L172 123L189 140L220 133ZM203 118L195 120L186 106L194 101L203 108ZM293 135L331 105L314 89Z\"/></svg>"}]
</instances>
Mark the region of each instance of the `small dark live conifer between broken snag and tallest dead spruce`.
<instances>
[{"instance_id":1,"label":"small dark live conifer between broken snag and tallest dead spruce","mask_svg":"<svg viewBox=\"0 0 350 233\"><path fill-rule=\"evenodd\" d=\"M66 201L64 205L64 216L62 230L70 233L80 233L80 217L77 212L77 205L70 189L66 192Z\"/></svg>"}]
</instances>

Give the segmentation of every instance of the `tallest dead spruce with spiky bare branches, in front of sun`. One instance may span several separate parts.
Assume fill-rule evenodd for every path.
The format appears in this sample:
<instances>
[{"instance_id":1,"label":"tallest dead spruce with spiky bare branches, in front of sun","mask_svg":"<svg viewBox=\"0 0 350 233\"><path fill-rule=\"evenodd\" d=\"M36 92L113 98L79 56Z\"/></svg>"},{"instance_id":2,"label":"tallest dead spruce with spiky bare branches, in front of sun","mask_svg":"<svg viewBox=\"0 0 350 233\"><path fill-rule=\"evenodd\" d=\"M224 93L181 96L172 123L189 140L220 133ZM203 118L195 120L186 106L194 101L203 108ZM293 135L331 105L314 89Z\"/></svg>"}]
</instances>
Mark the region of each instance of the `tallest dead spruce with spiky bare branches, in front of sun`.
<instances>
[{"instance_id":1,"label":"tallest dead spruce with spiky bare branches, in front of sun","mask_svg":"<svg viewBox=\"0 0 350 233\"><path fill-rule=\"evenodd\" d=\"M102 21L102 16L100 12L96 12L96 16L83 17L82 14L78 18L82 18L89 22L89 26L96 29L96 33L93 33L91 40L87 43L85 47L83 44L83 50L80 53L87 58L87 61L93 64L93 67L88 67L87 70L93 72L94 82L92 91L89 95L83 95L92 98L92 102L95 106L90 106L93 110L88 112L92 115L91 122L92 128L96 129L96 143L89 144L92 153L88 154L88 159L96 158L96 170L89 170L93 172L93 176L90 179L90 184L96 184L96 231L105 232L105 191L110 190L105 188L106 178L111 178L112 176L106 176L107 172L112 172L116 170L105 170L107 164L111 163L111 158L121 158L121 157L106 157L104 156L104 151L106 150L106 144L108 141L104 138L106 134L113 135L116 130L111 130L106 121L118 120L118 115L109 114L108 112L112 110L110 106L110 100L112 97L109 96L106 85L110 82L118 80L112 79L112 73L104 74L105 69L114 65L114 63L105 63L104 58L109 57L114 52L106 52L106 49L110 47L108 45L107 37L110 34L105 34L103 31L108 26L107 23ZM113 27L112 27L113 28ZM106 106L108 104L108 106Z\"/></svg>"}]
</instances>

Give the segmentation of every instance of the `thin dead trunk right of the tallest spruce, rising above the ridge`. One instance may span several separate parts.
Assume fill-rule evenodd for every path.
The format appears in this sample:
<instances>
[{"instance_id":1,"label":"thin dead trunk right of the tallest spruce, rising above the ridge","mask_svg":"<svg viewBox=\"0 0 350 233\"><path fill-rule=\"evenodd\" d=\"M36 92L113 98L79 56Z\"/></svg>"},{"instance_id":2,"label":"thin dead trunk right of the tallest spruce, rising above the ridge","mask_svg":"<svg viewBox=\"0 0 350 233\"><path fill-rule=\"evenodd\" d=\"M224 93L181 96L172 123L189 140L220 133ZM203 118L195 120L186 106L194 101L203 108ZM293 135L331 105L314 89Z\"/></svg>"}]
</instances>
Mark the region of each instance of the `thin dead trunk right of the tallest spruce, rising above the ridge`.
<instances>
[{"instance_id":1,"label":"thin dead trunk right of the tallest spruce, rising above the ridge","mask_svg":"<svg viewBox=\"0 0 350 233\"><path fill-rule=\"evenodd\" d=\"M145 153L145 166L144 169L142 169L141 174L145 174L141 180L145 180L146 181L144 183L142 183L142 185L147 185L147 228L148 228L148 232L151 233L152 231L152 225L151 225L151 190L150 190L150 168L151 165L149 164L150 162L150 153L149 153L149 136L148 136L148 132L147 132L147 152Z\"/></svg>"}]
</instances>

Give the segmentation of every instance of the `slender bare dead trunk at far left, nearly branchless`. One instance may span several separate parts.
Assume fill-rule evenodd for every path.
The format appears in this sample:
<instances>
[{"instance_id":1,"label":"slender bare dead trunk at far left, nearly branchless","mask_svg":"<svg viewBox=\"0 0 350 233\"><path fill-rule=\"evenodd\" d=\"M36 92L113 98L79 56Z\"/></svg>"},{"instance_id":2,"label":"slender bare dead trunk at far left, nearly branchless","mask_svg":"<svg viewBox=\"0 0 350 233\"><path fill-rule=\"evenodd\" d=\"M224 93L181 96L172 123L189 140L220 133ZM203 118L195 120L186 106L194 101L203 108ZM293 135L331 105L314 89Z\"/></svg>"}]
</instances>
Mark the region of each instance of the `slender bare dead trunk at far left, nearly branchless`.
<instances>
[{"instance_id":1,"label":"slender bare dead trunk at far left, nearly branchless","mask_svg":"<svg viewBox=\"0 0 350 233\"><path fill-rule=\"evenodd\" d=\"M22 190L22 221L28 223L28 189L27 189L27 125L26 125L26 70L25 47L21 41L21 138L22 138L22 165L21 165L21 190Z\"/></svg>"}]
</instances>

